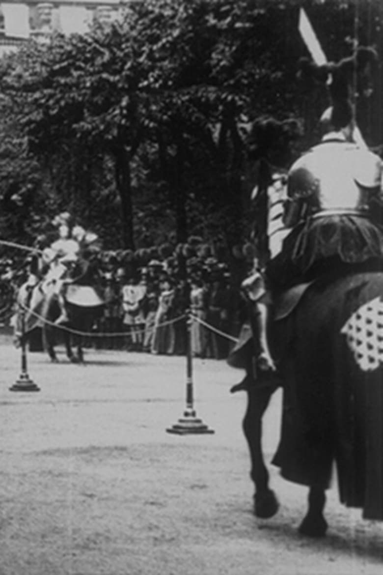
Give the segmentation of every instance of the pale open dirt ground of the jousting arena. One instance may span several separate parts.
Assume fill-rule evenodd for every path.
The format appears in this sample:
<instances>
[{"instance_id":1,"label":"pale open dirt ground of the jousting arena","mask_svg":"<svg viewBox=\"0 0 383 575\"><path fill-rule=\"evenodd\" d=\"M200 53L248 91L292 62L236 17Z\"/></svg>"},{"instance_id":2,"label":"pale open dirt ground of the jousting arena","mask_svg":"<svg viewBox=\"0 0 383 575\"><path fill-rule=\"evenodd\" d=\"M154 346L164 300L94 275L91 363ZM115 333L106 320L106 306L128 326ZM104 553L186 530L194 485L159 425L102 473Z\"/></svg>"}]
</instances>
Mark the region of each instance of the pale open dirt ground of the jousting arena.
<instances>
[{"instance_id":1,"label":"pale open dirt ground of the jousting arena","mask_svg":"<svg viewBox=\"0 0 383 575\"><path fill-rule=\"evenodd\" d=\"M214 435L171 435L185 358L87 350L86 366L28 355L38 393L10 392L20 351L0 340L0 575L381 575L383 527L328 492L326 539L297 534L307 490L272 485L252 513L241 371L195 360L197 415ZM277 443L280 394L265 419Z\"/></svg>"}]
</instances>

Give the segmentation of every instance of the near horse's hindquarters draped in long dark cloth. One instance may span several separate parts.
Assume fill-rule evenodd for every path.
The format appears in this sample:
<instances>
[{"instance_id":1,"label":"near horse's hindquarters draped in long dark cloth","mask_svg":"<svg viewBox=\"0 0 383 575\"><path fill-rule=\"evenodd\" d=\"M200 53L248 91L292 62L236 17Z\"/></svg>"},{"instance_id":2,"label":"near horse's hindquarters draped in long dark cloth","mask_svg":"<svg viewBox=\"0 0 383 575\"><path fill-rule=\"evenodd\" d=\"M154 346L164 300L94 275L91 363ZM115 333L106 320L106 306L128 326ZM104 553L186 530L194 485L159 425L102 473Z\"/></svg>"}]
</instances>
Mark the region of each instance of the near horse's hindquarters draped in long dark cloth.
<instances>
[{"instance_id":1,"label":"near horse's hindquarters draped in long dark cloth","mask_svg":"<svg viewBox=\"0 0 383 575\"><path fill-rule=\"evenodd\" d=\"M304 294L286 324L293 347L273 459L286 479L324 487L335 460L342 503L362 508L367 519L383 519L383 372L380 361L365 369L363 352L383 359L383 321L377 316L373 325L363 309L381 294L381 273L315 285ZM351 319L357 342L370 333L371 343L359 351L345 333Z\"/></svg>"}]
</instances>

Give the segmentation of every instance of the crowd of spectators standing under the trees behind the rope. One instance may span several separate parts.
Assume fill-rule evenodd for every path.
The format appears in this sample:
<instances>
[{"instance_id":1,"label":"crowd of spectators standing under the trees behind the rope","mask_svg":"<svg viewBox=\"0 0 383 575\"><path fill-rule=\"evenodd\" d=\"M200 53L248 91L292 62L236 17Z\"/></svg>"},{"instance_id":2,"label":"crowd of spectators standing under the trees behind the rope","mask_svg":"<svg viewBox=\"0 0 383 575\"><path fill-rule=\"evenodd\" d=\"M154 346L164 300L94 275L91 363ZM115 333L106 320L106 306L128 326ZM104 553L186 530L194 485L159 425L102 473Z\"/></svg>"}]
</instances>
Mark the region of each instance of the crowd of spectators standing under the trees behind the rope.
<instances>
[{"instance_id":1,"label":"crowd of spectators standing under the trees behind the rope","mask_svg":"<svg viewBox=\"0 0 383 575\"><path fill-rule=\"evenodd\" d=\"M132 262L118 252L100 252L96 260L97 290L105 304L87 346L184 355L186 312L190 310L192 354L227 357L245 317L245 304L226 263L209 255L192 255L181 258L181 269L180 258L174 254L137 264L137 258ZM9 304L9 286L13 285L15 295L28 272L20 261L16 264L10 259L0 271Z\"/></svg>"}]
</instances>

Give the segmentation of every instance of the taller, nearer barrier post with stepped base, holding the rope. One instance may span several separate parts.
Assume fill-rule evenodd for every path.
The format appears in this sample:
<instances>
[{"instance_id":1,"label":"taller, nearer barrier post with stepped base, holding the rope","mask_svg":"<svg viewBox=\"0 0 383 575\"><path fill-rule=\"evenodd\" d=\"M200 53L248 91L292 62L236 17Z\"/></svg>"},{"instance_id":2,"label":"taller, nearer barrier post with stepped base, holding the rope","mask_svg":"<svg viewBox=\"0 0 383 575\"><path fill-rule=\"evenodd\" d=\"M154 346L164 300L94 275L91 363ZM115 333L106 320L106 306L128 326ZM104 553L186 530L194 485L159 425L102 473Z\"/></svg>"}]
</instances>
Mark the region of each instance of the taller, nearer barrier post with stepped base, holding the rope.
<instances>
[{"instance_id":1,"label":"taller, nearer barrier post with stepped base, holding the rope","mask_svg":"<svg viewBox=\"0 0 383 575\"><path fill-rule=\"evenodd\" d=\"M187 434L212 434L214 430L210 429L203 423L202 419L196 416L194 409L194 390L193 390L193 362L192 362L192 345L191 345L191 323L192 316L187 312L186 321L186 408L183 417L167 428L168 433L177 435Z\"/></svg>"}]
</instances>

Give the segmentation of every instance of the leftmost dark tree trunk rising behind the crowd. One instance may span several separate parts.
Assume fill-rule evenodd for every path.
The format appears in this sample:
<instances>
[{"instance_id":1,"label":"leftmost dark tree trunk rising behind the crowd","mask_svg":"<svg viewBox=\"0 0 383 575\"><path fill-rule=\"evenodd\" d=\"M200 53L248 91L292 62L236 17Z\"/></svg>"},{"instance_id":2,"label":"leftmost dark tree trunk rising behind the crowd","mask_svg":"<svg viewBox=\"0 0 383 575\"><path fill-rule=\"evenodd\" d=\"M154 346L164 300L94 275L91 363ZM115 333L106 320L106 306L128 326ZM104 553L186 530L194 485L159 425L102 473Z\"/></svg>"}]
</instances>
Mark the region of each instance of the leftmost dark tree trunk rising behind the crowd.
<instances>
[{"instance_id":1,"label":"leftmost dark tree trunk rising behind the crowd","mask_svg":"<svg viewBox=\"0 0 383 575\"><path fill-rule=\"evenodd\" d=\"M125 147L115 154L115 179L121 200L123 247L134 250L133 202L131 200L130 158Z\"/></svg>"}]
</instances>

